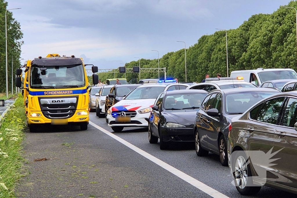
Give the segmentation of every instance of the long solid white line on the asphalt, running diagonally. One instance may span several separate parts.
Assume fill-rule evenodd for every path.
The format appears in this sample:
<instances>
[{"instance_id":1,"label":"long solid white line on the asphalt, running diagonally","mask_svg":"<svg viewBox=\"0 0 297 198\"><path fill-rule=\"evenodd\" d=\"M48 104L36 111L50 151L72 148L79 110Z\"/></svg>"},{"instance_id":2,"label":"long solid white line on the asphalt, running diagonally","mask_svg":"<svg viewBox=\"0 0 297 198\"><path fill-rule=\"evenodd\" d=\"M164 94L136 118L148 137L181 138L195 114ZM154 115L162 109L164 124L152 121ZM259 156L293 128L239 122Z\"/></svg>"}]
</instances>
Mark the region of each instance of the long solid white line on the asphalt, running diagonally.
<instances>
[{"instance_id":1,"label":"long solid white line on the asphalt, running diagonally","mask_svg":"<svg viewBox=\"0 0 297 198\"><path fill-rule=\"evenodd\" d=\"M205 192L206 194L210 195L211 197L214 198L229 198L226 195L220 193L219 191L216 191L215 189L207 186L206 184L196 180L195 178L192 178L191 176L187 175L184 172L181 172L180 170L170 166L169 164L165 163L164 161L152 156L151 154L141 150L140 148L132 145L131 143L127 142L126 140L123 140L122 138L116 136L115 134L103 129L102 127L98 126L97 124L94 124L93 122L89 121L89 123L94 126L95 128L99 129L100 131L102 131L103 133L109 135L110 137L112 137L113 139L121 142L122 144L124 144L125 146L127 146L128 148L132 149L133 151L139 153L140 155L142 155L143 157L151 160L152 162L154 162L155 164L159 165L160 167L164 168L165 170L168 170L169 172L171 172L173 175L176 175L177 177L181 178L182 180L188 182L189 184L191 184L192 186L195 186L196 188L198 188L199 190Z\"/></svg>"}]
</instances>

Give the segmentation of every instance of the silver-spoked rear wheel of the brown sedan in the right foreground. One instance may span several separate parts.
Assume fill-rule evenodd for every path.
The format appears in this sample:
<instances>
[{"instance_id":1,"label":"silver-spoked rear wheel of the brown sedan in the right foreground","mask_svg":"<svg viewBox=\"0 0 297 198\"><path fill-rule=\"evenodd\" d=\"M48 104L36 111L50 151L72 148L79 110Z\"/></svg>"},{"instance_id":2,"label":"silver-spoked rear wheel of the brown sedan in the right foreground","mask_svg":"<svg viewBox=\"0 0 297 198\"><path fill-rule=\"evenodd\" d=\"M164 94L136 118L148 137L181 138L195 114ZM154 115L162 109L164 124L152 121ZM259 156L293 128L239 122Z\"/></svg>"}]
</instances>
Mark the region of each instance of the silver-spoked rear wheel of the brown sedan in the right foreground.
<instances>
[{"instance_id":1,"label":"silver-spoked rear wheel of the brown sedan in the right foreground","mask_svg":"<svg viewBox=\"0 0 297 198\"><path fill-rule=\"evenodd\" d=\"M232 156L232 170L234 183L237 191L242 195L255 195L257 194L261 186L255 186L252 180L252 173L250 163L247 164L248 158L244 151L235 151Z\"/></svg>"}]
</instances>

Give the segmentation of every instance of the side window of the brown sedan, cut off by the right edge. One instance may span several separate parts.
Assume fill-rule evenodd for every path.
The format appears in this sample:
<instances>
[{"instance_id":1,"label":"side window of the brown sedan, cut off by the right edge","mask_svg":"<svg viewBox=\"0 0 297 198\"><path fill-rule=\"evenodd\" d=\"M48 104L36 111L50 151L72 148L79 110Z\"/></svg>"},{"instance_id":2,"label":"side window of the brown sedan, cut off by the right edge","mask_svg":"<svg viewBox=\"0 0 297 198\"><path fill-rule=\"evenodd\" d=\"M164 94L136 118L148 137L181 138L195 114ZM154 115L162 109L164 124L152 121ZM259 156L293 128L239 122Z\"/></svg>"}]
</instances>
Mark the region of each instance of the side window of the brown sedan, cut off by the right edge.
<instances>
[{"instance_id":1,"label":"side window of the brown sedan, cut off by the right edge","mask_svg":"<svg viewBox=\"0 0 297 198\"><path fill-rule=\"evenodd\" d=\"M290 98L283 117L283 126L294 127L297 122L297 99Z\"/></svg>"}]
</instances>

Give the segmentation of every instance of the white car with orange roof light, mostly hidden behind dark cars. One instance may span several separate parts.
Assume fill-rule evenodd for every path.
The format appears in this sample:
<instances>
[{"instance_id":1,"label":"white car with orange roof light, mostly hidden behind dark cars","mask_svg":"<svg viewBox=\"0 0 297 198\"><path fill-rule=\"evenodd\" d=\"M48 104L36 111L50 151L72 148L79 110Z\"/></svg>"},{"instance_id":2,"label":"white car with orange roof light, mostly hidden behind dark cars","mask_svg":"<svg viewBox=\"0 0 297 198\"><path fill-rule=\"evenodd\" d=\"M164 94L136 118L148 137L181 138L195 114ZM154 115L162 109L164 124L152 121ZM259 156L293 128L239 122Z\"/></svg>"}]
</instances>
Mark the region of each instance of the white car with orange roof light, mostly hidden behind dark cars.
<instances>
[{"instance_id":1,"label":"white car with orange roof light, mostly hidden behind dark cars","mask_svg":"<svg viewBox=\"0 0 297 198\"><path fill-rule=\"evenodd\" d=\"M242 77L222 77L222 78L206 78L205 83L198 83L189 86L187 89L203 89L212 91L215 89L230 89L230 88L255 88L256 85L245 82Z\"/></svg>"}]
</instances>

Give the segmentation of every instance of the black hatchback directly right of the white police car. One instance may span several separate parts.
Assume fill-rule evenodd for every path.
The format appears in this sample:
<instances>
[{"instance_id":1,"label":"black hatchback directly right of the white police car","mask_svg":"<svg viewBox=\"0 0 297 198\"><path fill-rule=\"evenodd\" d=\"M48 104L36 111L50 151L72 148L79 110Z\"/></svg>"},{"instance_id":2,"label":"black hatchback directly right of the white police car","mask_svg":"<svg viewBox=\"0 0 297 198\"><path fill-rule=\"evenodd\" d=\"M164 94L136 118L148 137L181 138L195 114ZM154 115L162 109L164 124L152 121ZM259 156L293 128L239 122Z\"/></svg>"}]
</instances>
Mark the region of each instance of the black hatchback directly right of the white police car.
<instances>
[{"instance_id":1,"label":"black hatchback directly right of the white police car","mask_svg":"<svg viewBox=\"0 0 297 198\"><path fill-rule=\"evenodd\" d=\"M207 95L204 90L162 92L149 116L149 142L168 149L170 142L194 142L193 130L197 110Z\"/></svg>"}]
</instances>

